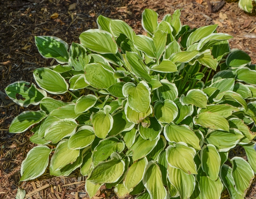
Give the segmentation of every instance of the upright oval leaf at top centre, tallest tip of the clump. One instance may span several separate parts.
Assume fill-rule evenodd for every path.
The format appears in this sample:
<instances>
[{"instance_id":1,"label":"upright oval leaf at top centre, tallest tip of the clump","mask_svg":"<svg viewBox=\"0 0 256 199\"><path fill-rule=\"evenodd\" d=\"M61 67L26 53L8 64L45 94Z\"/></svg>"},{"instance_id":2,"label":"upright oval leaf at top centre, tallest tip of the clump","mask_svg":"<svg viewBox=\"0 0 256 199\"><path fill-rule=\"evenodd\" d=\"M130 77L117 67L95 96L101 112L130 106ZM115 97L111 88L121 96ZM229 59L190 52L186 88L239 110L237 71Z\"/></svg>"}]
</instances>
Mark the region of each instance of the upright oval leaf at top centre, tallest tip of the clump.
<instances>
[{"instance_id":1,"label":"upright oval leaf at top centre, tallest tip of the clump","mask_svg":"<svg viewBox=\"0 0 256 199\"><path fill-rule=\"evenodd\" d=\"M146 8L142 12L142 27L151 35L153 35L153 32L157 29L157 17L158 13L151 9Z\"/></svg>"}]
</instances>

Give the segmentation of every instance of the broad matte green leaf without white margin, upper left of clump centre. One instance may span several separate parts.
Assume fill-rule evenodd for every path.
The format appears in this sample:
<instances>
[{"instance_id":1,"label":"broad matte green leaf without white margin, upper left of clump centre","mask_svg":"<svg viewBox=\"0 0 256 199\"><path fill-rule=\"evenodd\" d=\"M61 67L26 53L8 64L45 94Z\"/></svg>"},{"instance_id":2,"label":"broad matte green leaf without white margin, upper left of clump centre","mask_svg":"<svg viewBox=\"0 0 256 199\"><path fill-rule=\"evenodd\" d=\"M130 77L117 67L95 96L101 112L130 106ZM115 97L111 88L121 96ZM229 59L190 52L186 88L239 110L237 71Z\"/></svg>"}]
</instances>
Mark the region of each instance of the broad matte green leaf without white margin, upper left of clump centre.
<instances>
[{"instance_id":1,"label":"broad matte green leaf without white margin, upper left of clump centre","mask_svg":"<svg viewBox=\"0 0 256 199\"><path fill-rule=\"evenodd\" d=\"M96 89L106 89L117 83L112 71L106 70L101 64L91 63L85 66L85 81Z\"/></svg>"}]
</instances>

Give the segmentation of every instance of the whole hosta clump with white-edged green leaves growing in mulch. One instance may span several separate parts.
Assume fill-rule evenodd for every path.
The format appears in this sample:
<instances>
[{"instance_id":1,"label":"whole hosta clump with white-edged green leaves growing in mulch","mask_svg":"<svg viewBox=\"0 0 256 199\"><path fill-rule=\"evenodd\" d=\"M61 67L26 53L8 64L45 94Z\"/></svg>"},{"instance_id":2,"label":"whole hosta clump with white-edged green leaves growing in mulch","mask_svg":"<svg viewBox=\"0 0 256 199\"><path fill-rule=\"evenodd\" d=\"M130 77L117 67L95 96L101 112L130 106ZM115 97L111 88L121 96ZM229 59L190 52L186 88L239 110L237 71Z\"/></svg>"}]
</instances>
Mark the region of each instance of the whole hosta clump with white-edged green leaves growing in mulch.
<instances>
[{"instance_id":1,"label":"whole hosta clump with white-edged green leaves growing in mulch","mask_svg":"<svg viewBox=\"0 0 256 199\"><path fill-rule=\"evenodd\" d=\"M10 125L12 133L33 126L30 140L38 144L22 162L20 180L42 175L52 153L50 174L80 168L90 197L105 184L120 198L219 199L225 187L232 199L244 198L256 172L250 57L230 51L232 36L216 33L217 25L182 26L179 10L158 23L145 9L147 36L121 20L99 16L97 23L69 50L59 38L36 37L41 55L60 65L34 71L41 89L24 81L5 89L21 106L40 105ZM228 158L237 145L248 161Z\"/></svg>"}]
</instances>

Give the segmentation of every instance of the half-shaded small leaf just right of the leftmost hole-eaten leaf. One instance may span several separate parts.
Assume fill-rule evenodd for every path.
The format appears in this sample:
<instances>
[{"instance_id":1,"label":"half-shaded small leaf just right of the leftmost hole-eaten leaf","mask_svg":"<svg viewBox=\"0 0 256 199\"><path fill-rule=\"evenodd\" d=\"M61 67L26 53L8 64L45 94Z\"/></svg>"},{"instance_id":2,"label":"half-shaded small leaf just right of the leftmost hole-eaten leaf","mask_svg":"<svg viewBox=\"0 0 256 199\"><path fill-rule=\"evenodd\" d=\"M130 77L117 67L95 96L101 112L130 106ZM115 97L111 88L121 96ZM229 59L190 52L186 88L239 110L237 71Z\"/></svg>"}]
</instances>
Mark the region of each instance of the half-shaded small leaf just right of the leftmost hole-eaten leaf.
<instances>
[{"instance_id":1,"label":"half-shaded small leaf just right of the leftmost hole-eaten leaf","mask_svg":"<svg viewBox=\"0 0 256 199\"><path fill-rule=\"evenodd\" d=\"M61 100L54 100L51 97L45 97L40 102L40 109L43 110L46 114L49 114L53 110L66 105L67 103L61 101Z\"/></svg>"}]
</instances>

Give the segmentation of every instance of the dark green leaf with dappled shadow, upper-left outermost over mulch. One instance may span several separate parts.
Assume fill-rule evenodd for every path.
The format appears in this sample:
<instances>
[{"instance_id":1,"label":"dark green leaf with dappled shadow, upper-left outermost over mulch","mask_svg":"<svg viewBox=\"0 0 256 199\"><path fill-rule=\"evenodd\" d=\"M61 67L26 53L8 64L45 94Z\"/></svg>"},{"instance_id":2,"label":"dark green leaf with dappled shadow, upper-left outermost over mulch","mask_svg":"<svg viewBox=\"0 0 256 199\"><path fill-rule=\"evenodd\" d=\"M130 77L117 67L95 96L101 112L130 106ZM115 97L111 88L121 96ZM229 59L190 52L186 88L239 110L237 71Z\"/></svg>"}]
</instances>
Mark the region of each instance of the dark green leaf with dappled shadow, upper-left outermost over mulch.
<instances>
[{"instance_id":1,"label":"dark green leaf with dappled shadow, upper-left outermost over mulch","mask_svg":"<svg viewBox=\"0 0 256 199\"><path fill-rule=\"evenodd\" d=\"M35 36L35 45L44 58L55 58L68 63L68 44L55 36Z\"/></svg>"}]
</instances>

